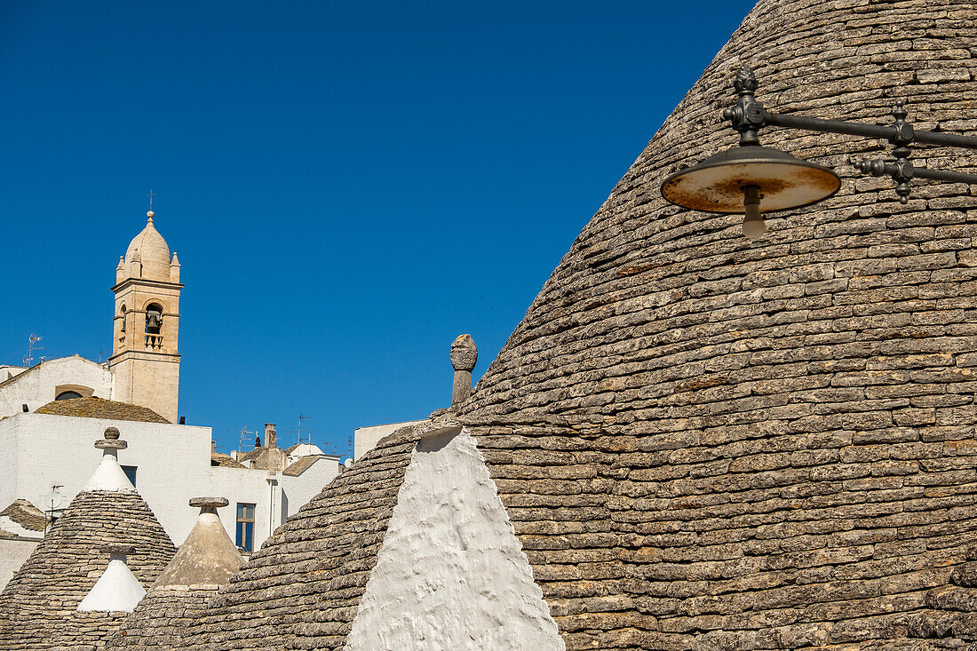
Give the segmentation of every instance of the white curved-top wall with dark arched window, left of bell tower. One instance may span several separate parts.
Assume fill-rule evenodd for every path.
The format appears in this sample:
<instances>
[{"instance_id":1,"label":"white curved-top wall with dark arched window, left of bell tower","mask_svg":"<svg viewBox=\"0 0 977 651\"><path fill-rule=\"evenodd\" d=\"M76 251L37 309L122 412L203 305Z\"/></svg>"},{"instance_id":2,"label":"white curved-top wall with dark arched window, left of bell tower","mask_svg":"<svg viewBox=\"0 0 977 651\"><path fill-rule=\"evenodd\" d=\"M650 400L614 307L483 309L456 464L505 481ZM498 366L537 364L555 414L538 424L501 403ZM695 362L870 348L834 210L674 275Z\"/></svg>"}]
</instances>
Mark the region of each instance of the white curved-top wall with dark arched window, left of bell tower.
<instances>
[{"instance_id":1,"label":"white curved-top wall with dark arched window, left of bell tower","mask_svg":"<svg viewBox=\"0 0 977 651\"><path fill-rule=\"evenodd\" d=\"M111 400L112 374L101 365L73 355L43 362L0 387L0 417L21 413L21 405L33 412L58 395L59 385L70 384L93 390L94 396Z\"/></svg>"}]
</instances>

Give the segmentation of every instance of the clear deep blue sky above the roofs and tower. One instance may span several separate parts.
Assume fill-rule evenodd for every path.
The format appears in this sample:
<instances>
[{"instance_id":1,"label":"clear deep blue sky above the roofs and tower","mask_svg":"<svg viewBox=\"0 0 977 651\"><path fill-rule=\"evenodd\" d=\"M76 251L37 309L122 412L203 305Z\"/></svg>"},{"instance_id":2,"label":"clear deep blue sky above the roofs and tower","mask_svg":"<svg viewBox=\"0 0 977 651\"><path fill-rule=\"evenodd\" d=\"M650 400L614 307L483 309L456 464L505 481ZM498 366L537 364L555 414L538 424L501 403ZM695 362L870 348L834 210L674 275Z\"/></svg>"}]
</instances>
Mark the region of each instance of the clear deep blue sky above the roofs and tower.
<instances>
[{"instance_id":1,"label":"clear deep blue sky above the roofs and tower","mask_svg":"<svg viewBox=\"0 0 977 651\"><path fill-rule=\"evenodd\" d=\"M151 188L219 449L446 407L750 6L5 0L0 363L106 357Z\"/></svg>"}]
</instances>

